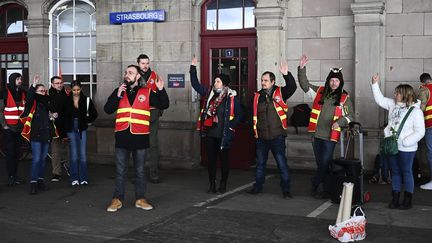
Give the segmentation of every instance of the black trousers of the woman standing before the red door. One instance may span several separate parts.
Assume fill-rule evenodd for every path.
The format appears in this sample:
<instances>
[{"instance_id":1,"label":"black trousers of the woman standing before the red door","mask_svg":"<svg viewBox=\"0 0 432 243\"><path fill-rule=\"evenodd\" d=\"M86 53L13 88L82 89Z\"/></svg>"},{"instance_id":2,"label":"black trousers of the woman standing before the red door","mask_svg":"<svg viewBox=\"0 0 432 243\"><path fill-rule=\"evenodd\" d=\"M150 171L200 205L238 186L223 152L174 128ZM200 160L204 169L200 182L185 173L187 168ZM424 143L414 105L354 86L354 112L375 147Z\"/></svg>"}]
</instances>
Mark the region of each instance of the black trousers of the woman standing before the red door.
<instances>
[{"instance_id":1,"label":"black trousers of the woman standing before the red door","mask_svg":"<svg viewBox=\"0 0 432 243\"><path fill-rule=\"evenodd\" d=\"M229 149L222 149L221 139L214 137L205 138L205 146L207 150L208 158L208 175L209 181L216 180L216 170L217 170L217 159L218 156L221 158L221 181L226 182L228 180L229 174Z\"/></svg>"}]
</instances>

